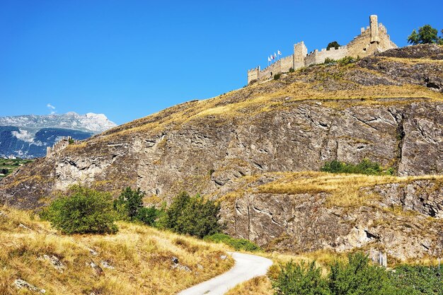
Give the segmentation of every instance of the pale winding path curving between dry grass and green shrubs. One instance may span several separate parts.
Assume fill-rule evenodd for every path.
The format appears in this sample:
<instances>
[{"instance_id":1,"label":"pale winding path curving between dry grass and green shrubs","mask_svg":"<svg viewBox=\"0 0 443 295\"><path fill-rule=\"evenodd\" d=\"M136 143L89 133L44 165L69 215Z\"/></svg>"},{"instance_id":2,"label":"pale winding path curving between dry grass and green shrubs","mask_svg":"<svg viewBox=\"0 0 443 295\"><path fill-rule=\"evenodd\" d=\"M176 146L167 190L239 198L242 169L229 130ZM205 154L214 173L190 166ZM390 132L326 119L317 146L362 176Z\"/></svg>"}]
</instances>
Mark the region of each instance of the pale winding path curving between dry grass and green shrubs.
<instances>
[{"instance_id":1,"label":"pale winding path curving between dry grass and green shrubs","mask_svg":"<svg viewBox=\"0 0 443 295\"><path fill-rule=\"evenodd\" d=\"M272 265L271 260L261 256L236 252L230 254L236 261L231 270L209 279L209 281L183 290L178 295L222 295L237 284L266 274Z\"/></svg>"}]
</instances>

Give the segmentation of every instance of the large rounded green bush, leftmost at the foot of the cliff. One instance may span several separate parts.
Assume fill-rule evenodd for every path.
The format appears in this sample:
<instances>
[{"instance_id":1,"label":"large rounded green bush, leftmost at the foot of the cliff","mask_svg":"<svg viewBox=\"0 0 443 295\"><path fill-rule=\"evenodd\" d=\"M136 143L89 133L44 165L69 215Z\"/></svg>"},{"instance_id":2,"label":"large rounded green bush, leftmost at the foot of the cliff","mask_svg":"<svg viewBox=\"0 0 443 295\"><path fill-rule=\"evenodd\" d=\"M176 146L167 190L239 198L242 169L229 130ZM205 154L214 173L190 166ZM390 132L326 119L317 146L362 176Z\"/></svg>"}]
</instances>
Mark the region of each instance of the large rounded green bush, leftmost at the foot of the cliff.
<instances>
[{"instance_id":1,"label":"large rounded green bush, leftmost at the foot of the cliff","mask_svg":"<svg viewBox=\"0 0 443 295\"><path fill-rule=\"evenodd\" d=\"M74 185L67 196L55 199L41 214L62 233L115 233L111 195Z\"/></svg>"}]
</instances>

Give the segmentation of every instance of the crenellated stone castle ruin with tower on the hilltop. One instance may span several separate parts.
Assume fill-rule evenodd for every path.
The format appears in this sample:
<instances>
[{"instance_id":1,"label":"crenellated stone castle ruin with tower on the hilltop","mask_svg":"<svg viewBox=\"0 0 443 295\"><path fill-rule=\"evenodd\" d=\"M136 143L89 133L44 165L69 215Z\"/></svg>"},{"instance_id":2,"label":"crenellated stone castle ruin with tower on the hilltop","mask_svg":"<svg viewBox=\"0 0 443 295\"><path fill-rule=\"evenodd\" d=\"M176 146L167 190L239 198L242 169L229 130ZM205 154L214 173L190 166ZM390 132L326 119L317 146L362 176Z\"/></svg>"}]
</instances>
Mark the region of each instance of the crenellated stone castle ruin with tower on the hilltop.
<instances>
[{"instance_id":1,"label":"crenellated stone castle ruin with tower on the hilltop","mask_svg":"<svg viewBox=\"0 0 443 295\"><path fill-rule=\"evenodd\" d=\"M308 50L301 41L294 44L294 54L289 57L282 57L275 63L260 69L248 70L248 84L253 81L263 81L272 79L272 76L279 73L288 72L290 69L299 69L311 64L322 64L325 59L341 59L343 57L367 57L376 52L383 52L391 48L397 48L389 35L388 31L381 23L378 23L377 16L369 16L369 26L361 28L360 35L354 37L354 40L338 49L331 47L329 50L314 50L308 54Z\"/></svg>"}]
</instances>

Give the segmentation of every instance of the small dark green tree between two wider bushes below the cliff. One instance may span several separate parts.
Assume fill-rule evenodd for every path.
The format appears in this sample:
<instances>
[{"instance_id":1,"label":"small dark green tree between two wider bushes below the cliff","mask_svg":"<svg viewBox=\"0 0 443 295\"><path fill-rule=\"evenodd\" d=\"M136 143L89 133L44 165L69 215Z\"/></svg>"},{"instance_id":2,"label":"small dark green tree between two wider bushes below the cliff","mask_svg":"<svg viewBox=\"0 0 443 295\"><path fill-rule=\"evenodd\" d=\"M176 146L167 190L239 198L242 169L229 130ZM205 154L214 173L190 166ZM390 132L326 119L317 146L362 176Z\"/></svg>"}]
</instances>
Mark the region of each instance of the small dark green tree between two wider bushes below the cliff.
<instances>
[{"instance_id":1,"label":"small dark green tree between two wider bushes below the cliff","mask_svg":"<svg viewBox=\"0 0 443 295\"><path fill-rule=\"evenodd\" d=\"M137 219L139 210L143 208L143 197L144 192L140 188L132 190L131 187L126 187L118 199L114 201L114 209L120 219L129 219L130 221Z\"/></svg>"}]
</instances>

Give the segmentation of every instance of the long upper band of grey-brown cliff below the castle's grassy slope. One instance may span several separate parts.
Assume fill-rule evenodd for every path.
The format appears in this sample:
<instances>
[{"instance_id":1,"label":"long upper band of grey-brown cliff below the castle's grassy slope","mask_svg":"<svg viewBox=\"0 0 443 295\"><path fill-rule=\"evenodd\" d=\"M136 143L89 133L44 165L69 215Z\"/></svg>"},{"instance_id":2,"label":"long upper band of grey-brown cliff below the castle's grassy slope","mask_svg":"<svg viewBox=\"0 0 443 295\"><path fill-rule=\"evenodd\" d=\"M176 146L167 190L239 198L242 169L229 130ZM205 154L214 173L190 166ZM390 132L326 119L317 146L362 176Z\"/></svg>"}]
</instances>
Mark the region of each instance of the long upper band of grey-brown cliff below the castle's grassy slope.
<instances>
[{"instance_id":1,"label":"long upper band of grey-brown cliff below the castle's grassy slope","mask_svg":"<svg viewBox=\"0 0 443 295\"><path fill-rule=\"evenodd\" d=\"M398 175L442 173L441 103L335 103L343 109L301 101L243 122L202 117L160 134L86 141L6 178L2 196L18 206L23 199L8 192L28 198L28 189L18 189L26 183L21 179L27 170L31 179L41 175L50 188L44 195L34 192L33 198L80 182L106 190L137 185L166 199L180 190L208 194L242 175L318 170L334 158L353 163L370 158L398 168Z\"/></svg>"}]
</instances>

